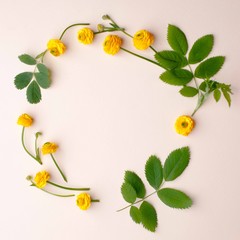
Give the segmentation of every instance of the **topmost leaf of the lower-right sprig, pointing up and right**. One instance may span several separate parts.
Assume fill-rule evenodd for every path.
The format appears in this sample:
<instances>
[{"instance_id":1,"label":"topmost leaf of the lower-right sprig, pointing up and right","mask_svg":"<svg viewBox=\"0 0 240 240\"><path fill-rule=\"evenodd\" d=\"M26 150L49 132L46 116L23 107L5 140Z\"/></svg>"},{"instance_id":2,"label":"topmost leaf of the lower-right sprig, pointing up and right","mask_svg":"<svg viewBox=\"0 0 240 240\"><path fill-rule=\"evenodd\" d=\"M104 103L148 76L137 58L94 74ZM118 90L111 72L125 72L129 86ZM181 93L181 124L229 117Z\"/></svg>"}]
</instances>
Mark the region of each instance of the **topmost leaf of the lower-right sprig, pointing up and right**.
<instances>
[{"instance_id":1,"label":"topmost leaf of the lower-right sprig, pointing up and right","mask_svg":"<svg viewBox=\"0 0 240 240\"><path fill-rule=\"evenodd\" d=\"M164 167L163 176L166 181L173 181L179 177L190 160L189 147L183 147L172 151L167 157Z\"/></svg>"}]
</instances>

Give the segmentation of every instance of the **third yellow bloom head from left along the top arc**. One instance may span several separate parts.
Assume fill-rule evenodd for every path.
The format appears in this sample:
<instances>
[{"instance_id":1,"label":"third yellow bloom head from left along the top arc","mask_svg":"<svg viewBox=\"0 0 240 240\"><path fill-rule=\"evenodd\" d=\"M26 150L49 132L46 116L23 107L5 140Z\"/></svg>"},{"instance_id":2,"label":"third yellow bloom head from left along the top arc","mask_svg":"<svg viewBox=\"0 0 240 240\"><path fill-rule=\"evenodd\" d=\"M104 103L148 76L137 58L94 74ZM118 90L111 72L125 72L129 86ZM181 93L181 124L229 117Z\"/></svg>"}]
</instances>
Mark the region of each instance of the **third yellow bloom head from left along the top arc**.
<instances>
[{"instance_id":1,"label":"third yellow bloom head from left along the top arc","mask_svg":"<svg viewBox=\"0 0 240 240\"><path fill-rule=\"evenodd\" d=\"M103 42L103 50L107 54L115 55L120 50L122 39L117 35L108 35Z\"/></svg>"}]
</instances>

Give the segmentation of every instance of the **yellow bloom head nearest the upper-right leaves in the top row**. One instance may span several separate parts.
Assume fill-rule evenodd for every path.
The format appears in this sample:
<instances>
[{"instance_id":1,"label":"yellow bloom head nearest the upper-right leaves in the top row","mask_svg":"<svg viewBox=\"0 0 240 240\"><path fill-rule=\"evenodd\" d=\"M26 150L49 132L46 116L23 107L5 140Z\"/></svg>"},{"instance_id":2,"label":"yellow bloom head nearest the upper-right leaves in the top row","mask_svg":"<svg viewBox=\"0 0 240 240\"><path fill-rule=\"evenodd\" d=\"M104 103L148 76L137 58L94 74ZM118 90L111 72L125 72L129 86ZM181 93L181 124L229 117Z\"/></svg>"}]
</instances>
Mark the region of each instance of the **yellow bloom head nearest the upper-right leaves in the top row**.
<instances>
[{"instance_id":1,"label":"yellow bloom head nearest the upper-right leaves in the top row","mask_svg":"<svg viewBox=\"0 0 240 240\"><path fill-rule=\"evenodd\" d=\"M154 36L147 30L140 30L133 36L133 45L138 50L146 50L154 42Z\"/></svg>"}]
</instances>

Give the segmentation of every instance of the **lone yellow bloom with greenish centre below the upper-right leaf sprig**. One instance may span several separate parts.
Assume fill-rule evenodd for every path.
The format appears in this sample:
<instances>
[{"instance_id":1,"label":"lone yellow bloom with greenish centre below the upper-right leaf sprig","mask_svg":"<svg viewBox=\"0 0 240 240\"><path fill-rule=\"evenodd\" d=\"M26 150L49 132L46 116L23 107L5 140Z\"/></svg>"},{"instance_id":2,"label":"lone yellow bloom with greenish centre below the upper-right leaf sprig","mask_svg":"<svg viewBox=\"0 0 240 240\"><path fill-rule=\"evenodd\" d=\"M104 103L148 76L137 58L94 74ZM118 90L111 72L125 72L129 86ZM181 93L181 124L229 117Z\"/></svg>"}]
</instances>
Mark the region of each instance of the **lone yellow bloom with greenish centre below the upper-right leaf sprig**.
<instances>
[{"instance_id":1,"label":"lone yellow bloom with greenish centre below the upper-right leaf sprig","mask_svg":"<svg viewBox=\"0 0 240 240\"><path fill-rule=\"evenodd\" d=\"M194 128L194 120L189 116L180 116L175 122L175 130L177 133L187 136Z\"/></svg>"}]
</instances>

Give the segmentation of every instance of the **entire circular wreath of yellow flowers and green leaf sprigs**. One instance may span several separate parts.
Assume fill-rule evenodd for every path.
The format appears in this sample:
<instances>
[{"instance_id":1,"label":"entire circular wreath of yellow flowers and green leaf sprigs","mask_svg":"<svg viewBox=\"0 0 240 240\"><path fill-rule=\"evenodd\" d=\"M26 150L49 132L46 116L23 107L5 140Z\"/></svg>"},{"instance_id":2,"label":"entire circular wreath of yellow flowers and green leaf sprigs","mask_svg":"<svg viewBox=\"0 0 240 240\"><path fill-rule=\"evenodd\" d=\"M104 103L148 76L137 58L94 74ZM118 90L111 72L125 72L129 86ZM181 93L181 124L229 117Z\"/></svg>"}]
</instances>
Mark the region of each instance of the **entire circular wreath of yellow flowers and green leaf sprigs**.
<instances>
[{"instance_id":1,"label":"entire circular wreath of yellow flowers and green leaf sprigs","mask_svg":"<svg viewBox=\"0 0 240 240\"><path fill-rule=\"evenodd\" d=\"M177 133L187 136L191 133L195 126L193 116L203 106L210 95L213 95L216 102L218 102L223 95L228 105L231 105L231 85L216 81L213 77L222 68L225 57L214 56L208 58L214 45L214 37L212 34L205 35L197 39L193 46L189 48L187 37L185 33L174 25L168 26L167 41L171 50L158 51L153 46L155 44L154 35L148 30L142 29L135 34L129 34L125 28L119 26L109 15L104 15L103 20L108 21L109 25L98 24L97 30L87 27L89 23L76 23L68 26L59 38L51 39L47 43L46 50L42 51L36 57L29 54L22 54L19 60L27 65L34 66L32 72L22 72L15 77L14 84L17 89L26 88L27 100L31 104L37 104L41 101L41 89L47 89L51 86L51 74L48 67L44 64L44 58L47 53L54 57L59 57L67 50L64 44L63 37L68 29L76 26L84 26L78 30L77 39L82 44L91 44L94 39L103 33L110 33L103 41L103 50L110 55L116 55L119 51L124 51L135 57L141 58L144 61L152 63L164 70L160 75L160 80L169 85L181 87L179 93L188 98L197 97L197 104L191 115L182 115L175 121L175 130ZM138 52L133 52L124 47L122 37L113 34L113 32L121 32L133 43L137 51L150 50L153 52L153 58L145 57ZM25 128L33 124L33 118L28 114L22 114L17 123L22 128L22 146L27 154L42 164L42 157L38 147L38 137L40 132L35 134L35 153L32 154L25 146L24 132ZM58 145L54 142L46 142L41 147L43 155L50 155L53 163L59 171L61 177L67 182L67 177L63 173L59 164L57 163L54 153L57 151ZM155 189L155 191L146 196L146 190L143 181L139 176L132 172L126 171L124 183L121 187L123 198L130 203L130 216L136 223L142 223L143 226L155 231L157 227L157 213L154 207L148 203L146 198L157 193L158 197L166 205L173 208L188 208L192 205L192 200L185 193L170 188L162 188L164 181L172 181L176 179L187 167L190 159L189 148L181 148L170 153L166 159L164 166L160 159L156 156L151 156L145 166L145 174L148 183ZM35 177L28 176L27 180L31 182L31 186L37 187L47 193L60 197L73 197L75 194L58 194L46 190L46 185L52 185L57 188L70 191L84 191L77 195L76 203L80 209L86 210L91 203L99 202L98 199L93 199L89 191L90 188L73 188L69 186L62 186L50 181L50 174L44 170L38 172ZM136 200L140 198L140 200ZM133 206L142 203L140 208Z\"/></svg>"}]
</instances>

